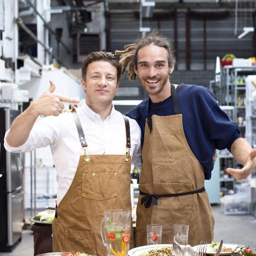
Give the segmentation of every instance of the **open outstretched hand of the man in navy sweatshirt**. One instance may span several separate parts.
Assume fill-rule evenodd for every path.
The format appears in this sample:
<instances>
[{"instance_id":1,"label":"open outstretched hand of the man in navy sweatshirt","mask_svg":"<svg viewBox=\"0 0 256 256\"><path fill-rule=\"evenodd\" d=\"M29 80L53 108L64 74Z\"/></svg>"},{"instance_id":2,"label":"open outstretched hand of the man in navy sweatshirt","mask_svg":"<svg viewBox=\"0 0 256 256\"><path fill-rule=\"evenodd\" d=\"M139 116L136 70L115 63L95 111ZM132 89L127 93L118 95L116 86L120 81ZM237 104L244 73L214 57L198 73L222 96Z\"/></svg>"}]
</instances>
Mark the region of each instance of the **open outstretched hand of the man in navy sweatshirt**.
<instances>
[{"instance_id":1,"label":"open outstretched hand of the man in navy sweatshirt","mask_svg":"<svg viewBox=\"0 0 256 256\"><path fill-rule=\"evenodd\" d=\"M234 168L227 168L227 172L232 175L236 180L246 179L249 174L256 167L256 149L253 149L251 153L247 156L244 167L242 169L234 169Z\"/></svg>"}]
</instances>

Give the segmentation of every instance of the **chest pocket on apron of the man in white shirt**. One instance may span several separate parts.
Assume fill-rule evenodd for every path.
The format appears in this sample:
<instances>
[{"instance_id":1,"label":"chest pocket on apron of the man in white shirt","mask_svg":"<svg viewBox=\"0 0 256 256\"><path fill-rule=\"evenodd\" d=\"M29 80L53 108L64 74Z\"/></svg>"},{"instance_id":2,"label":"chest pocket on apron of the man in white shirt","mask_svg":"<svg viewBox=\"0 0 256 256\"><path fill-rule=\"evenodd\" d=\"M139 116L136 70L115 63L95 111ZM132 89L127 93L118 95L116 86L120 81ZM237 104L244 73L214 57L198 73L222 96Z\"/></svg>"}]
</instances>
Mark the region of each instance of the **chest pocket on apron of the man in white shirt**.
<instances>
[{"instance_id":1,"label":"chest pocket on apron of the man in white shirt","mask_svg":"<svg viewBox=\"0 0 256 256\"><path fill-rule=\"evenodd\" d=\"M82 196L97 201L117 196L117 173L83 173Z\"/></svg>"}]
</instances>

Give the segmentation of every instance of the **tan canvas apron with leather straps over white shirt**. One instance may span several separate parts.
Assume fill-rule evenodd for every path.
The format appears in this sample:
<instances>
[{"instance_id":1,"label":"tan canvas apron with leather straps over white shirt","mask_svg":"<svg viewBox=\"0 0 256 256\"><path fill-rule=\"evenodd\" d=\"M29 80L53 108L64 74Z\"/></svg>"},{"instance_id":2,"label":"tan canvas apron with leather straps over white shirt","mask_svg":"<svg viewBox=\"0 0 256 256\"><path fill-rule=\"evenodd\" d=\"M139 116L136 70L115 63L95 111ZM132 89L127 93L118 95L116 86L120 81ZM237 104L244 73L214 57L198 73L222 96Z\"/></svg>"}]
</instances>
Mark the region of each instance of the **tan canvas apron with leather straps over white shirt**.
<instances>
[{"instance_id":1,"label":"tan canvas apron with leather straps over white shirt","mask_svg":"<svg viewBox=\"0 0 256 256\"><path fill-rule=\"evenodd\" d=\"M103 256L107 254L100 235L103 212L111 209L131 210L129 120L124 117L126 155L89 156L78 115L76 111L73 114L85 155L80 156L75 177L56 211L57 218L52 225L53 252L83 252Z\"/></svg>"}]
</instances>

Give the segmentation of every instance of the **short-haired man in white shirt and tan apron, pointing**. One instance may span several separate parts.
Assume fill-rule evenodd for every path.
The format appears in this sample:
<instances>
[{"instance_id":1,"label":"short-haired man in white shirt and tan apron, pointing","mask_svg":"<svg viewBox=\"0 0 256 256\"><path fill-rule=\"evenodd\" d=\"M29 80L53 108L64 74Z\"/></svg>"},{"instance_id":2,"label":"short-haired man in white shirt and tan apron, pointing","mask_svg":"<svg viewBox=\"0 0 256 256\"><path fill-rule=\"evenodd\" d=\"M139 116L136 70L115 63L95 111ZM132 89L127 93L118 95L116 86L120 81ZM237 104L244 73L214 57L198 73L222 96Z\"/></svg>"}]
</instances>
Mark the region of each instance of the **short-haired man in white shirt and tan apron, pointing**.
<instances>
[{"instance_id":1,"label":"short-haired man in white shirt and tan apron, pointing","mask_svg":"<svg viewBox=\"0 0 256 256\"><path fill-rule=\"evenodd\" d=\"M131 210L131 156L140 167L140 128L114 108L120 75L114 54L90 53L82 65L85 105L61 114L62 102L76 101L55 95L50 82L6 132L5 148L12 152L51 146L58 181L54 252L106 255L103 212ZM48 117L36 122L39 115Z\"/></svg>"}]
</instances>

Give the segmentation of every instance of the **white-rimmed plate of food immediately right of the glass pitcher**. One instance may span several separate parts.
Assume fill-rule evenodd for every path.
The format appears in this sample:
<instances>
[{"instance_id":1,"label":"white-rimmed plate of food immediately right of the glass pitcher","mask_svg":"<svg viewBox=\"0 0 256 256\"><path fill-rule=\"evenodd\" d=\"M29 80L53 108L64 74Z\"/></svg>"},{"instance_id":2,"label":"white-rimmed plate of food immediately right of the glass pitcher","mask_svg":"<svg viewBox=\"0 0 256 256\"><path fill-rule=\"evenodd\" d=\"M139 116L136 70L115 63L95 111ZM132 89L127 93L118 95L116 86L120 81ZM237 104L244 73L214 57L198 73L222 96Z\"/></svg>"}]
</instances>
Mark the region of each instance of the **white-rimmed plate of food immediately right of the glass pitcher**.
<instances>
[{"instance_id":1,"label":"white-rimmed plate of food immediately right of the glass pitcher","mask_svg":"<svg viewBox=\"0 0 256 256\"><path fill-rule=\"evenodd\" d=\"M128 256L174 256L172 244L153 244L135 247L128 252Z\"/></svg>"}]
</instances>

